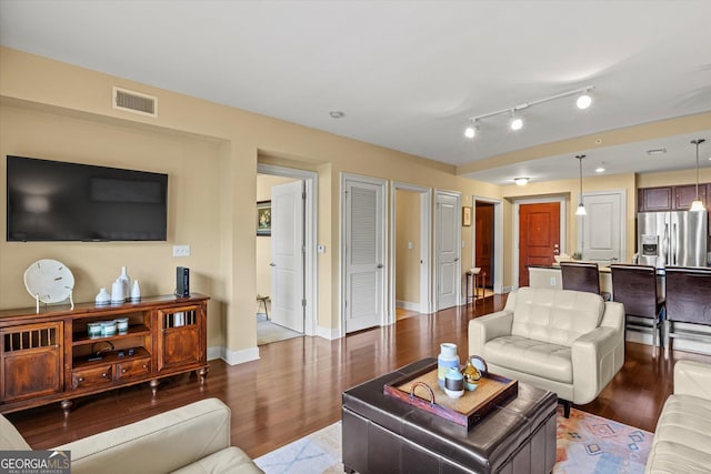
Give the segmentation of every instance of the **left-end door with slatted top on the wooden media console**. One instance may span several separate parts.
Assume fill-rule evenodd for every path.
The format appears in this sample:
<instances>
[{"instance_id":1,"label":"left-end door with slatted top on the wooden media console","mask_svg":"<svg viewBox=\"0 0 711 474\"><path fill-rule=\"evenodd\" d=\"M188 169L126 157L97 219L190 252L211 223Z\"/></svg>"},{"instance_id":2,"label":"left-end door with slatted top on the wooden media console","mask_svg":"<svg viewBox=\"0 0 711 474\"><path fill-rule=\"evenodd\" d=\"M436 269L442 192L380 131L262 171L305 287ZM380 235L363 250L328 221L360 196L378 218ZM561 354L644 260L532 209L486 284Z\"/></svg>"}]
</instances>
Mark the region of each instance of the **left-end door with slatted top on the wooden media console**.
<instances>
[{"instance_id":1,"label":"left-end door with slatted top on the wooden media console","mask_svg":"<svg viewBox=\"0 0 711 474\"><path fill-rule=\"evenodd\" d=\"M0 330L2 402L62 391L62 327L51 322Z\"/></svg>"}]
</instances>

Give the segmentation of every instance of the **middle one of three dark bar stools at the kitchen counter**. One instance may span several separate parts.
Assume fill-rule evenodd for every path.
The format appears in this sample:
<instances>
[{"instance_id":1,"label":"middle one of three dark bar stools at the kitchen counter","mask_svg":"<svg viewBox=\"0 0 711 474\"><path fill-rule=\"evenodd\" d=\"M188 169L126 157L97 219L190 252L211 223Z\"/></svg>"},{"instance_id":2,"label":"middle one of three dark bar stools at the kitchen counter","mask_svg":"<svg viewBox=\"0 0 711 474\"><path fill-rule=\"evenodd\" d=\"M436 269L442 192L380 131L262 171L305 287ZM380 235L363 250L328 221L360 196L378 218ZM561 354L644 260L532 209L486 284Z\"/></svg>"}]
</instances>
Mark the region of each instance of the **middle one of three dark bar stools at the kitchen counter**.
<instances>
[{"instance_id":1,"label":"middle one of three dark bar stools at the kitchen counter","mask_svg":"<svg viewBox=\"0 0 711 474\"><path fill-rule=\"evenodd\" d=\"M662 345L664 297L657 285L657 269L651 265L613 264L610 271L613 299L624 305L625 327L639 332L651 330L654 347L658 337L659 345Z\"/></svg>"}]
</instances>

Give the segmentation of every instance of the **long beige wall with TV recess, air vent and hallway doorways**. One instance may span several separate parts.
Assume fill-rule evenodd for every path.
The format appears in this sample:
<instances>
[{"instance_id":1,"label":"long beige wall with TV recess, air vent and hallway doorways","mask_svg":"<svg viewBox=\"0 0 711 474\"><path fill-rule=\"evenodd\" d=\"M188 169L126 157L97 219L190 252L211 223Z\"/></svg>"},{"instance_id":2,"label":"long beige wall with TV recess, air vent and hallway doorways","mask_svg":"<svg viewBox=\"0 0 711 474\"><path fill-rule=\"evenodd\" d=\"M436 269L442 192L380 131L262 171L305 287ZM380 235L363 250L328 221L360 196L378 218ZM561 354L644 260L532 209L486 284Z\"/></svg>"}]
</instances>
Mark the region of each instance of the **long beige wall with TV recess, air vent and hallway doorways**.
<instances>
[{"instance_id":1,"label":"long beige wall with TV recess, air vent and hallway doorways","mask_svg":"<svg viewBox=\"0 0 711 474\"><path fill-rule=\"evenodd\" d=\"M78 301L92 300L100 285L116 279L120 265L144 282L146 294L168 293L174 266L186 265L194 269L193 290L212 297L209 345L221 346L230 361L253 359L258 159L319 173L318 242L328 250L318 261L318 325L327 332L340 325L342 172L500 196L498 186L457 177L450 165L7 48L0 49L0 74L2 157L84 161L170 175L168 242L0 242L3 309L31 303L21 276L40 258L64 259L76 271ZM113 110L113 85L157 95L159 117ZM0 170L4 200L4 161ZM468 242L470 229L464 232ZM182 243L192 246L192 255L172 258L172 245Z\"/></svg>"}]
</instances>

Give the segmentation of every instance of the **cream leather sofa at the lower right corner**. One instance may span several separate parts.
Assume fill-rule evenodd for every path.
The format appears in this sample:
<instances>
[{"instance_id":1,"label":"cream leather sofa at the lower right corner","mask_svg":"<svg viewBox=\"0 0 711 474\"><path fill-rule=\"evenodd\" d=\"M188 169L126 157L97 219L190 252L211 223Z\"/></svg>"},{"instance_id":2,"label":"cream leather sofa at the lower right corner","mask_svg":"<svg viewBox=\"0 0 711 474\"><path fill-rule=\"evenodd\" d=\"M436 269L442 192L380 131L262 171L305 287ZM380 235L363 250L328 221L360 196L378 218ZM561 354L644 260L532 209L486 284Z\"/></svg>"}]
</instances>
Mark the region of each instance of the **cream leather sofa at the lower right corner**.
<instances>
[{"instance_id":1,"label":"cream leather sofa at the lower right corner","mask_svg":"<svg viewBox=\"0 0 711 474\"><path fill-rule=\"evenodd\" d=\"M667 399L645 473L711 472L711 365L679 361L674 393Z\"/></svg>"}]
</instances>

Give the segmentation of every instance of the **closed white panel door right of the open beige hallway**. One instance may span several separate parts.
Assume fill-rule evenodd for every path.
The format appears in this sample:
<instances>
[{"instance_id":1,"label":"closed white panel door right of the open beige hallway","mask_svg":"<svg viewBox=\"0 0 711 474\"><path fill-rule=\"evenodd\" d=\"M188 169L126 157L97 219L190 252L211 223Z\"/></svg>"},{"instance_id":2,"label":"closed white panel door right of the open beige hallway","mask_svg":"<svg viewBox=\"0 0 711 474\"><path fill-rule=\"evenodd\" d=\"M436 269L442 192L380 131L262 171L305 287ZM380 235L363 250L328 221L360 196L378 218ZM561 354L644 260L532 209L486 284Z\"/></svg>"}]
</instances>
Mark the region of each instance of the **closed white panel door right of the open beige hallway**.
<instances>
[{"instance_id":1,"label":"closed white panel door right of the open beige hallway","mask_svg":"<svg viewBox=\"0 0 711 474\"><path fill-rule=\"evenodd\" d=\"M461 289L461 196L437 192L437 310L459 305Z\"/></svg>"}]
</instances>

